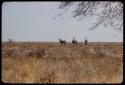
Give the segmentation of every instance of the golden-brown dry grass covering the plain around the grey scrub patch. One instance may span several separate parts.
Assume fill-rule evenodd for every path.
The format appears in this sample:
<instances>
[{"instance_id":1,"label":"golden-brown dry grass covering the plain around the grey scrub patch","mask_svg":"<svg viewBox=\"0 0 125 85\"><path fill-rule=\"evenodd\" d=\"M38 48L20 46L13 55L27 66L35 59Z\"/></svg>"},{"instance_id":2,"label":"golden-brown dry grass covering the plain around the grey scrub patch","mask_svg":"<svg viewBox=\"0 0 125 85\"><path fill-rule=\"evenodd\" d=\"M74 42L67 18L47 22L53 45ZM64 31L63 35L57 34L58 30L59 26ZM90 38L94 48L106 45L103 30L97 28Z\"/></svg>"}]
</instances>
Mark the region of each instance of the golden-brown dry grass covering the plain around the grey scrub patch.
<instances>
[{"instance_id":1,"label":"golden-brown dry grass covering the plain around the grey scrub patch","mask_svg":"<svg viewBox=\"0 0 125 85\"><path fill-rule=\"evenodd\" d=\"M2 44L2 49L11 47L42 48L47 57L2 55L5 83L121 83L123 80L122 44ZM110 55L102 52L103 48L112 50Z\"/></svg>"}]
</instances>

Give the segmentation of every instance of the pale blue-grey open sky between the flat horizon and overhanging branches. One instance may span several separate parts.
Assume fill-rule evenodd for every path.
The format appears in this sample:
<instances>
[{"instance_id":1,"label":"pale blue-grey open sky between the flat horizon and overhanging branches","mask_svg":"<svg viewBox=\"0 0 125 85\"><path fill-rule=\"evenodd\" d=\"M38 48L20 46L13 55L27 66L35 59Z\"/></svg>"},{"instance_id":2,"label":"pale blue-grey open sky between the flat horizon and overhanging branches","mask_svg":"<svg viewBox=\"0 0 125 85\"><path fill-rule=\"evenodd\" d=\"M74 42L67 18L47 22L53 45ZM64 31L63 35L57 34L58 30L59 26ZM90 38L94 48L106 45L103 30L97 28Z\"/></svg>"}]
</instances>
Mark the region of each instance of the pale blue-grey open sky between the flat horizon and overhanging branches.
<instances>
[{"instance_id":1,"label":"pale blue-grey open sky between the flat horizon and overhanging branches","mask_svg":"<svg viewBox=\"0 0 125 85\"><path fill-rule=\"evenodd\" d=\"M75 37L90 42L123 42L123 32L99 26L89 30L92 18L82 21L72 18L71 12L53 19L64 10L59 2L4 2L2 4L2 41L56 42L58 38L71 41Z\"/></svg>"}]
</instances>

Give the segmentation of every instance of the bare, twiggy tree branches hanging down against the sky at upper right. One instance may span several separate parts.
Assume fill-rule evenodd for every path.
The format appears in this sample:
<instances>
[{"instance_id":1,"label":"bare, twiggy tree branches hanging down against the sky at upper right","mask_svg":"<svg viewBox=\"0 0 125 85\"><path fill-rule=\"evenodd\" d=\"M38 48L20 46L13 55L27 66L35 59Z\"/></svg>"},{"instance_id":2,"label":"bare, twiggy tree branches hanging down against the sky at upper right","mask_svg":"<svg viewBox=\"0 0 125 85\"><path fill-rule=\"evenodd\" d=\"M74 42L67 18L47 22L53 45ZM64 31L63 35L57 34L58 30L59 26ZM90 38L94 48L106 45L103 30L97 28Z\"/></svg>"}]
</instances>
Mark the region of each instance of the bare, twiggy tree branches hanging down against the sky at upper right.
<instances>
[{"instance_id":1,"label":"bare, twiggy tree branches hanging down against the sky at upper right","mask_svg":"<svg viewBox=\"0 0 125 85\"><path fill-rule=\"evenodd\" d=\"M65 9L63 13L57 16L63 15L70 10L71 7L75 7L72 11L72 17L78 17L82 20L84 17L93 16L96 17L96 22L89 29L96 29L99 25L110 25L114 29L123 30L123 4L119 1L64 1L60 2L59 9Z\"/></svg>"}]
</instances>

